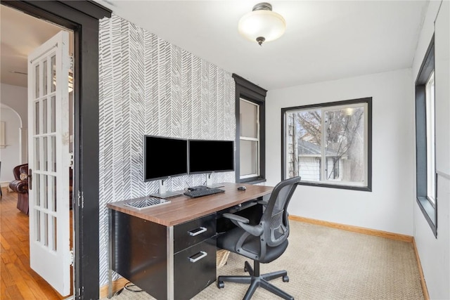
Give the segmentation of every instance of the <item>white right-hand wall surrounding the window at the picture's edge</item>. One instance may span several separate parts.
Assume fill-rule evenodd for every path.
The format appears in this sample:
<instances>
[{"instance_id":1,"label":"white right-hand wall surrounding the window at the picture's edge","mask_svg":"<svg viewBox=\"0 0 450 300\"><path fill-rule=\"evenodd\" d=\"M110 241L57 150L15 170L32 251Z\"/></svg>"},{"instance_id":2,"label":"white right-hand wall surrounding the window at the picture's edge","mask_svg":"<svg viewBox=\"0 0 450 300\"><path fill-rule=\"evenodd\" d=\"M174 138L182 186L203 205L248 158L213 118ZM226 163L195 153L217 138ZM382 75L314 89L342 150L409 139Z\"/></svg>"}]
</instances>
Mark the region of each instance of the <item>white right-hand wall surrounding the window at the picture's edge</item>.
<instances>
[{"instance_id":1,"label":"white right-hand wall surrounding the window at the picture's edge","mask_svg":"<svg viewBox=\"0 0 450 300\"><path fill-rule=\"evenodd\" d=\"M440 4L441 1L430 1L423 30L420 32L411 82L414 84L416 80L425 51L435 33L437 238L416 204L416 188L411 200L414 202L413 235L430 299L450 299L450 3L442 1L442 6Z\"/></svg>"}]
</instances>

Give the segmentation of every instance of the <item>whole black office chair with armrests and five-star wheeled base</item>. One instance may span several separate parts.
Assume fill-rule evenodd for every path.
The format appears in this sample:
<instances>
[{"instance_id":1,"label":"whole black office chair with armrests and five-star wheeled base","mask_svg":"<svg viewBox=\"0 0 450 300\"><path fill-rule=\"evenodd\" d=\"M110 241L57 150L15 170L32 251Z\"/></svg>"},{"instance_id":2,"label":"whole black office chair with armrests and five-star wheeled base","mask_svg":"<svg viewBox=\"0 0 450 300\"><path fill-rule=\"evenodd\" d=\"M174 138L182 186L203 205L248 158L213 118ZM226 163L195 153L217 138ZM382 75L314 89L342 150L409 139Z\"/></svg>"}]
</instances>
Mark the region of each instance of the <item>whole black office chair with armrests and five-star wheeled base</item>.
<instances>
[{"instance_id":1,"label":"whole black office chair with armrests and five-star wheeled base","mask_svg":"<svg viewBox=\"0 0 450 300\"><path fill-rule=\"evenodd\" d=\"M219 276L217 287L223 288L224 281L248 283L250 287L243 298L245 300L252 297L257 287L263 287L283 299L294 299L293 296L269 283L269 280L279 277L283 277L283 282L288 282L288 273L280 270L260 275L259 263L270 263L278 259L288 247L288 204L298 183L300 183L300 176L281 181L275 186L269 201L259 202L264 205L264 208L257 225L251 225L250 221L243 216L223 215L238 227L219 235L217 247L252 259L253 268L248 261L245 261L244 271L250 273L250 276Z\"/></svg>"}]
</instances>

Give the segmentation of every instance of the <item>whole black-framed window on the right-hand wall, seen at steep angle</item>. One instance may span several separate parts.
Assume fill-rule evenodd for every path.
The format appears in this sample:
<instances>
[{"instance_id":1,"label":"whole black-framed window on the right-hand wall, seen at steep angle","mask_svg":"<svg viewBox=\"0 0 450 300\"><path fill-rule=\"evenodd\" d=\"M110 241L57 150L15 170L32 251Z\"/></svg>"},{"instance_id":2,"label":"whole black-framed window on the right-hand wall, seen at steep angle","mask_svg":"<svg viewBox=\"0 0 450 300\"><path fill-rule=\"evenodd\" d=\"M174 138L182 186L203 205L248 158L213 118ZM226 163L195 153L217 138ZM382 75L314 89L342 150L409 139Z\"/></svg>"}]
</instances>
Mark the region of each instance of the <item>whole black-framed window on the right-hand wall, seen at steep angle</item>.
<instances>
[{"instance_id":1,"label":"whole black-framed window on the right-hand wall, seen at steep angle","mask_svg":"<svg viewBox=\"0 0 450 300\"><path fill-rule=\"evenodd\" d=\"M416 79L416 195L423 216L437 236L435 128L435 41L432 37Z\"/></svg>"}]
</instances>

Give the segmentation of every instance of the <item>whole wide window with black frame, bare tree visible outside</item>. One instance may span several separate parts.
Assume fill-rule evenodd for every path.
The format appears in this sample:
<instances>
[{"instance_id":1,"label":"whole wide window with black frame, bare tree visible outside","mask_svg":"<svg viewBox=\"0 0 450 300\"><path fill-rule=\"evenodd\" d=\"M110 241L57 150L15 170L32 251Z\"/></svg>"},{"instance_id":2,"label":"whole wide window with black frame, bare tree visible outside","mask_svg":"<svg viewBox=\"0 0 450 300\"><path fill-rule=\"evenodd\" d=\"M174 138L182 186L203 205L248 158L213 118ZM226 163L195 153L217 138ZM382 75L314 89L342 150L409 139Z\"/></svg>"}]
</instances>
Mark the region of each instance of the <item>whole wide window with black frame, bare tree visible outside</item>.
<instances>
[{"instance_id":1,"label":"whole wide window with black frame, bare tree visible outside","mask_svg":"<svg viewBox=\"0 0 450 300\"><path fill-rule=\"evenodd\" d=\"M283 179L370 191L371 105L362 98L283 108Z\"/></svg>"}]
</instances>

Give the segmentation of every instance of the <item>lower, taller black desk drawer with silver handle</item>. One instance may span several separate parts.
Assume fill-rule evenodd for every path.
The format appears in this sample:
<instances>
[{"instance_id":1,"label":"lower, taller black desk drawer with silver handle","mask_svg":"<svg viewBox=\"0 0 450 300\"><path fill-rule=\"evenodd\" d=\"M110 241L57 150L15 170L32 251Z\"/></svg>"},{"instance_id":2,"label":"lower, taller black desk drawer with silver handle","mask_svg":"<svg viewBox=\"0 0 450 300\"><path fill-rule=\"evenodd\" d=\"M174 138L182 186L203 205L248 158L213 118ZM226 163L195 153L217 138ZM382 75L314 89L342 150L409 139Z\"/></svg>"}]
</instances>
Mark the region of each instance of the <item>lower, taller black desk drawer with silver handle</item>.
<instances>
[{"instance_id":1,"label":"lower, taller black desk drawer with silver handle","mask_svg":"<svg viewBox=\"0 0 450 300\"><path fill-rule=\"evenodd\" d=\"M216 237L174 255L174 298L191 299L216 280Z\"/></svg>"}]
</instances>

